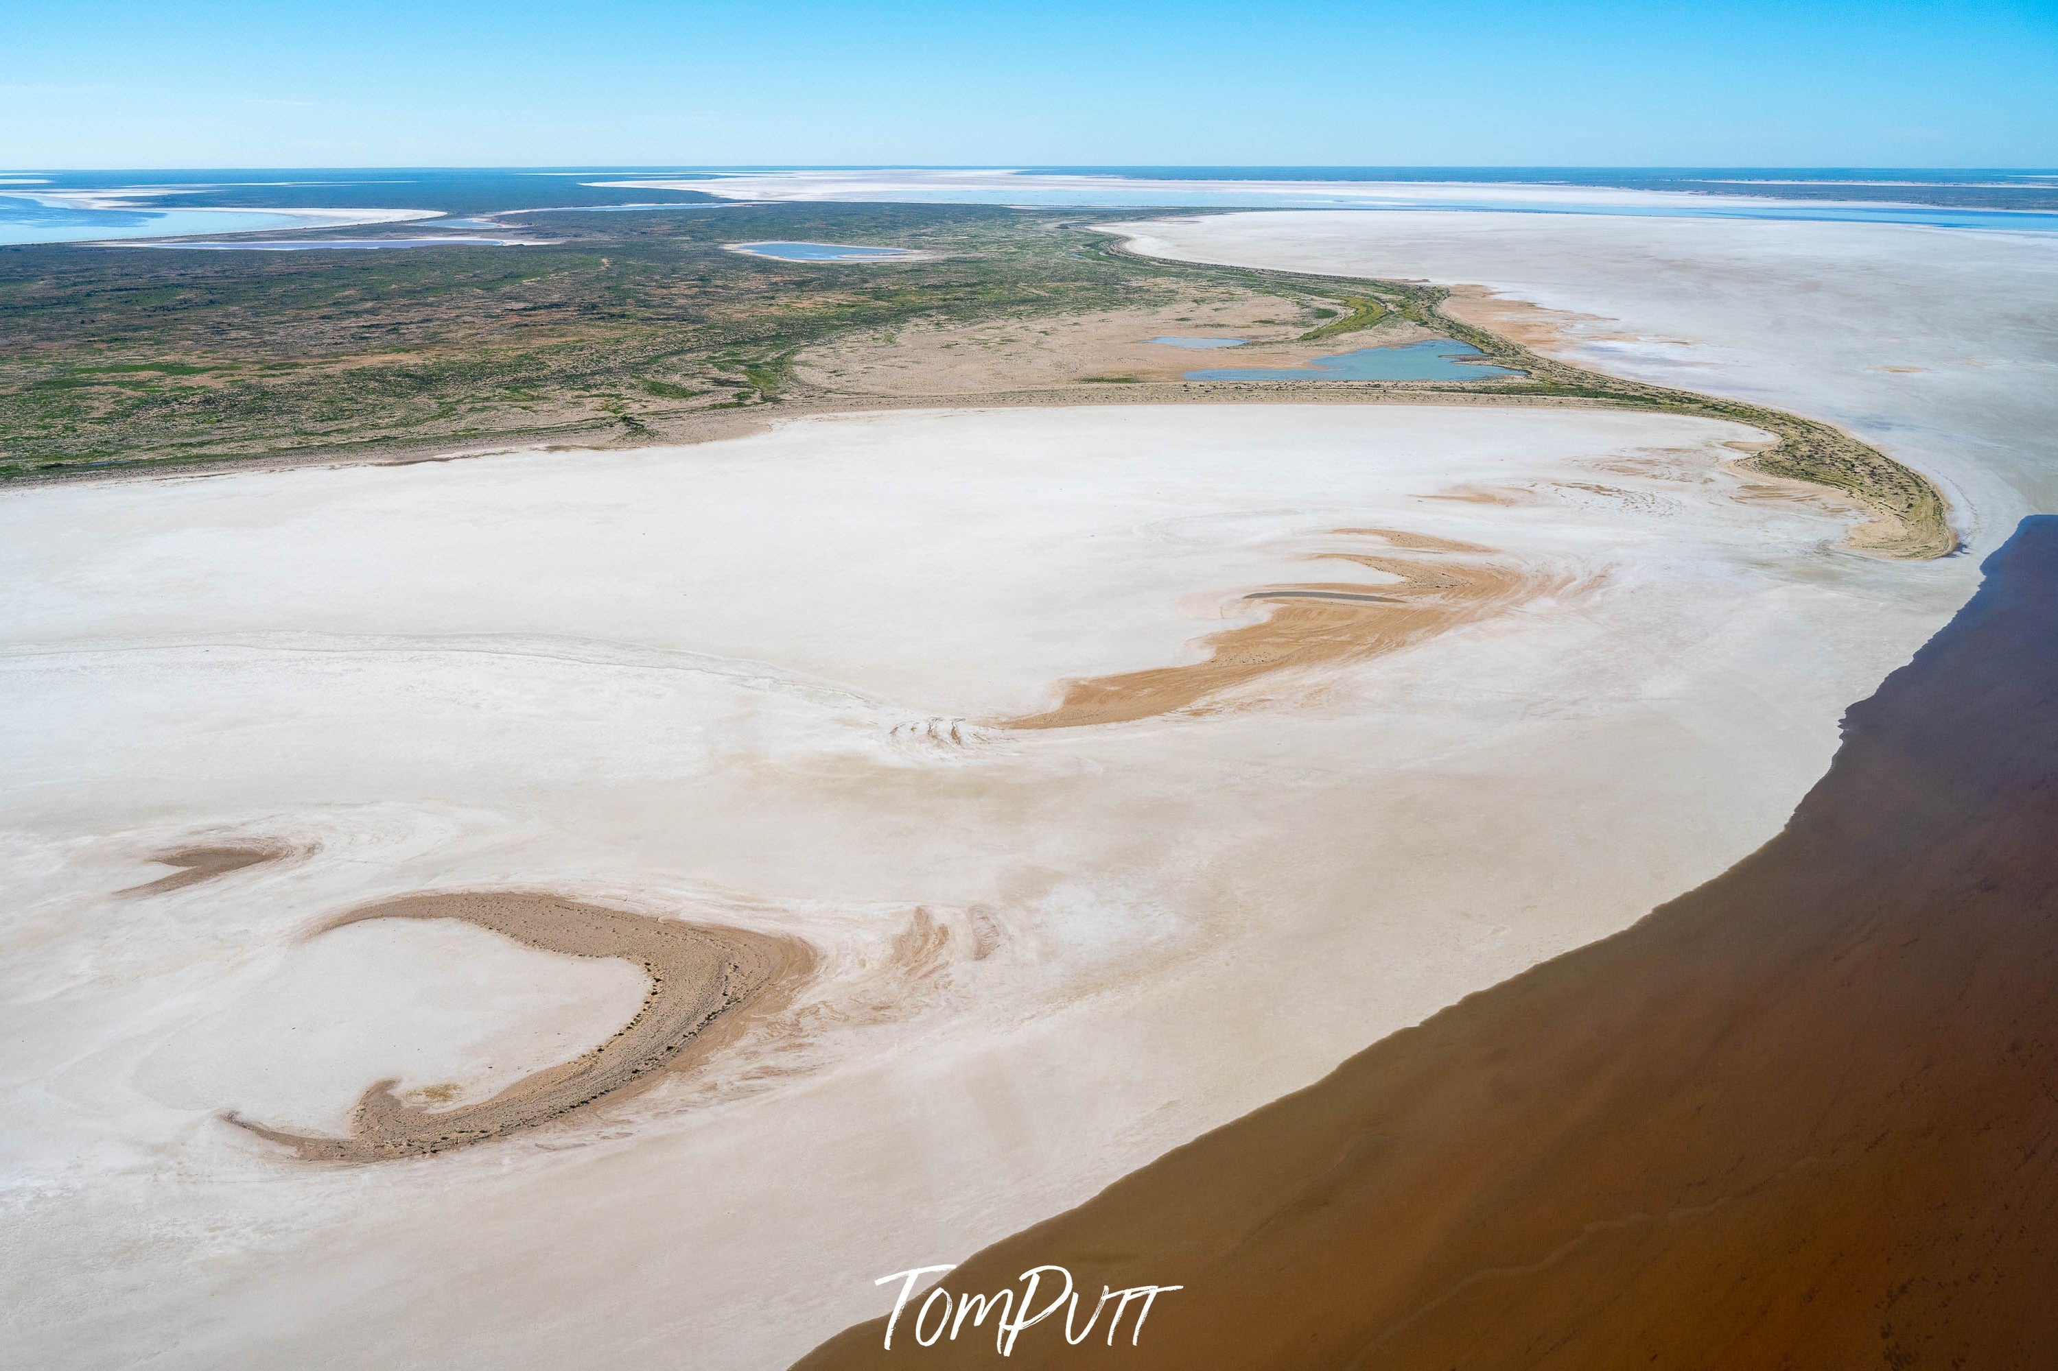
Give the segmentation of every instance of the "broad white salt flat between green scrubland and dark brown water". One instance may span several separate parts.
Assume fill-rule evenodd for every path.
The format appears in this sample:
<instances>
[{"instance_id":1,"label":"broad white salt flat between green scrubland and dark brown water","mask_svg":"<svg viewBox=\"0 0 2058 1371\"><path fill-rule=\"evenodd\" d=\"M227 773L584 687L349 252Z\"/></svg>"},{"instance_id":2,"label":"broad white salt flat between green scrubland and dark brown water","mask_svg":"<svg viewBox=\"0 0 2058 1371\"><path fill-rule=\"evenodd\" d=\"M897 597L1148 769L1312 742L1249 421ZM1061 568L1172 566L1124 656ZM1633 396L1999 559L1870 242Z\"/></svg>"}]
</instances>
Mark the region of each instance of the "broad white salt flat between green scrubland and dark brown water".
<instances>
[{"instance_id":1,"label":"broad white salt flat between green scrubland and dark brown water","mask_svg":"<svg viewBox=\"0 0 2058 1371\"><path fill-rule=\"evenodd\" d=\"M1336 220L1399 218L1142 247L1342 269L1367 240ZM1395 243L1367 261L1432 273ZM1467 251L1447 280L1519 284L1490 236ZM1902 397L1854 425L1990 541L2039 497L2037 448L1994 456L2017 436L1972 430L1976 380L1873 388L1900 343L1869 321L1945 269L1887 263L1819 292L1799 341L1745 327L1786 286L1753 298L1741 265L1733 314L1636 314L1671 298L1655 247L1618 296L1593 267L1543 302L1605 310L1644 349L1622 366L1698 347L1710 388L1821 417ZM1988 331L2029 364L2035 337ZM1976 571L1840 551L1848 512L1723 465L1749 438L1519 409L897 413L6 495L10 1359L424 1365L463 1336L510 1365L780 1365L879 1313L873 1276L1624 927L1778 828L1842 707ZM1066 678L1198 662L1268 613L1253 592L1377 594L1340 557L1391 539L1340 530L1490 549L1543 590L1208 713L1000 728ZM115 896L228 839L294 855ZM300 937L432 888L794 933L821 964L696 1073L510 1141L321 1168L224 1124L335 1128L381 1075L471 1100L634 1009L626 964L477 929Z\"/></svg>"}]
</instances>

